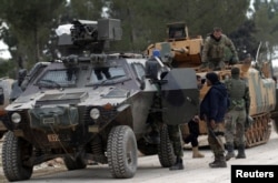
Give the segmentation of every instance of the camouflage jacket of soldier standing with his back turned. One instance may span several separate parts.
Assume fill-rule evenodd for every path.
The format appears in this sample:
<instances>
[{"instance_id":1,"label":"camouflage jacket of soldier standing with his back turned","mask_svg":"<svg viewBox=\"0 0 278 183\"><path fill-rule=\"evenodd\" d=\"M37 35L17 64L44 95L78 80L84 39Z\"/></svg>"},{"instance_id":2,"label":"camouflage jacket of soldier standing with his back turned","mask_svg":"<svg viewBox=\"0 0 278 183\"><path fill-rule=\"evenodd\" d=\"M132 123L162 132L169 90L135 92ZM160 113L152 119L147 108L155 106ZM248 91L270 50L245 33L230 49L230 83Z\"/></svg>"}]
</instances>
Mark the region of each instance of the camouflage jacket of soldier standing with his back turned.
<instances>
[{"instance_id":1,"label":"camouflage jacket of soldier standing with his back turned","mask_svg":"<svg viewBox=\"0 0 278 183\"><path fill-rule=\"evenodd\" d=\"M229 110L246 110L249 113L250 95L245 80L231 78L225 82L225 85L230 98Z\"/></svg>"}]
</instances>

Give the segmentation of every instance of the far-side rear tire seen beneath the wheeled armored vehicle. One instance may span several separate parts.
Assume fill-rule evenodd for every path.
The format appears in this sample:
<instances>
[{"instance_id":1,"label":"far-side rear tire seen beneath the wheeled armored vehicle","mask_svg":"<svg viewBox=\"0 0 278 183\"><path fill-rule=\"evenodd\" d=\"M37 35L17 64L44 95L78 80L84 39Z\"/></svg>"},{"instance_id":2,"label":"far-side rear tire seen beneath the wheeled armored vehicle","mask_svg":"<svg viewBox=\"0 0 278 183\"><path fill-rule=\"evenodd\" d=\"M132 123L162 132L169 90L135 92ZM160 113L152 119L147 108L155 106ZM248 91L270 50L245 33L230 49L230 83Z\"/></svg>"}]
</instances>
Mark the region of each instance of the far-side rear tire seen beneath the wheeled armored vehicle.
<instances>
[{"instance_id":1,"label":"far-side rear tire seen beneath the wheeled armored vehicle","mask_svg":"<svg viewBox=\"0 0 278 183\"><path fill-rule=\"evenodd\" d=\"M68 171L80 170L80 169L87 167L87 161L85 159L83 153L78 155L76 159L70 155L66 155L63 157L63 162Z\"/></svg>"}]
</instances>

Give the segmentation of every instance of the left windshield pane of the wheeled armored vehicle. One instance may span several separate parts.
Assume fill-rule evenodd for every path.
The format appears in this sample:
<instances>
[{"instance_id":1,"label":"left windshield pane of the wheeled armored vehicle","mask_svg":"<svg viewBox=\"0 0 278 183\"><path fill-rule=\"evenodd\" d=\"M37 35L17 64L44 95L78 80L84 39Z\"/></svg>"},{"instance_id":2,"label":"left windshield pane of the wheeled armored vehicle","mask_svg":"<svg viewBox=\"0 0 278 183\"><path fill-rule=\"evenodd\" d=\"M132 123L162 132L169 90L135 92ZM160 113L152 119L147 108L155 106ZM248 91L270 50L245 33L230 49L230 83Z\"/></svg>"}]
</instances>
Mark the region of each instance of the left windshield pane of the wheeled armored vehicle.
<instances>
[{"instance_id":1,"label":"left windshield pane of the wheeled armored vehicle","mask_svg":"<svg viewBox=\"0 0 278 183\"><path fill-rule=\"evenodd\" d=\"M48 70L37 82L40 87L71 87L77 82L77 70Z\"/></svg>"}]
</instances>

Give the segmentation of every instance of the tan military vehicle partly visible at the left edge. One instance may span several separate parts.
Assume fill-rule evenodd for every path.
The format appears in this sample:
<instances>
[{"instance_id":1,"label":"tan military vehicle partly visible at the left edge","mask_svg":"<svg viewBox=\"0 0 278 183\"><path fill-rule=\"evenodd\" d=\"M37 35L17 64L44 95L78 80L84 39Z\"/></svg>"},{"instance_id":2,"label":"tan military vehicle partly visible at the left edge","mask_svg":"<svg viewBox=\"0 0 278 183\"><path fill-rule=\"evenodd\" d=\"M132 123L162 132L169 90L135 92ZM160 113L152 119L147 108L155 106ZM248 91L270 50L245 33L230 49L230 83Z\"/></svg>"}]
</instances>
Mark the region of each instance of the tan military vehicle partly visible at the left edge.
<instances>
[{"instance_id":1,"label":"tan military vehicle partly visible at the left edge","mask_svg":"<svg viewBox=\"0 0 278 183\"><path fill-rule=\"evenodd\" d=\"M0 79L0 139L8 131L3 124L3 121L7 120L7 112L4 108L10 103L10 93L13 79L1 78Z\"/></svg>"}]
</instances>

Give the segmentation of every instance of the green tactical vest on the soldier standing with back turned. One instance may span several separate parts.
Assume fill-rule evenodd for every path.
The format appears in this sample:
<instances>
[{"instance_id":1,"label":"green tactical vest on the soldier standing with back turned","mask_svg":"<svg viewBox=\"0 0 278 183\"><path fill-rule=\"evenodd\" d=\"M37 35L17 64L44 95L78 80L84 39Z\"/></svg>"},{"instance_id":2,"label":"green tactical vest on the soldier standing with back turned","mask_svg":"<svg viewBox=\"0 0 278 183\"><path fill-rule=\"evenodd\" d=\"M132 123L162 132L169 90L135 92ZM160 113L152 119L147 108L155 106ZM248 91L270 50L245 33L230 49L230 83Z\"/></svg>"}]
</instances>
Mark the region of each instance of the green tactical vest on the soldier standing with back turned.
<instances>
[{"instance_id":1,"label":"green tactical vest on the soldier standing with back turned","mask_svg":"<svg viewBox=\"0 0 278 183\"><path fill-rule=\"evenodd\" d=\"M245 103L245 91L246 83L241 79L230 79L226 82L228 89L228 95L230 98L229 109L244 110L246 108Z\"/></svg>"}]
</instances>

